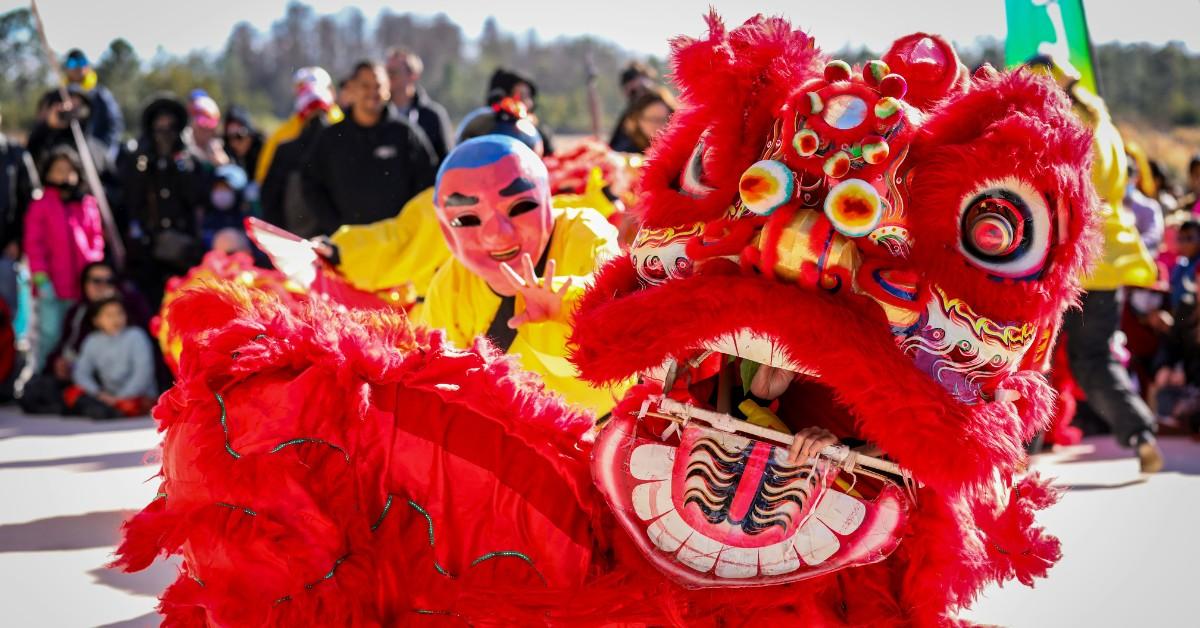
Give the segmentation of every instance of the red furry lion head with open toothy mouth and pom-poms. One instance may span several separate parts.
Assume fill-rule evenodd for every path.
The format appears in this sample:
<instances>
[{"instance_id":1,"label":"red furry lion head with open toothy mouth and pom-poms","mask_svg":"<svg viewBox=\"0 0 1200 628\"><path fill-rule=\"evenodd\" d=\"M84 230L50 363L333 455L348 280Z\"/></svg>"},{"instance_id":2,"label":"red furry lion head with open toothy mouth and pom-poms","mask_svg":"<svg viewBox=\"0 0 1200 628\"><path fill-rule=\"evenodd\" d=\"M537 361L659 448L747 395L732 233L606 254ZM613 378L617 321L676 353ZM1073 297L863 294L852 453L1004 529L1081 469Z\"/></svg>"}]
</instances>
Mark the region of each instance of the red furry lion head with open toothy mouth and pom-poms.
<instances>
[{"instance_id":1,"label":"red furry lion head with open toothy mouth and pom-poms","mask_svg":"<svg viewBox=\"0 0 1200 628\"><path fill-rule=\"evenodd\" d=\"M1091 136L1052 83L968 76L936 36L884 59L828 60L762 18L677 42L686 108L648 155L641 232L581 304L572 359L596 383L647 383L598 436L593 472L684 586L803 580L898 546L884 564L902 566L906 544L953 531L938 540L960 545L962 573L944 578L970 598L1057 556L1032 515L1024 540L988 520L1021 508L1003 489L1049 420L1039 371L1093 247ZM778 400L746 394L763 366L791 371ZM739 420L763 409L896 467L790 465L790 437ZM917 496L962 507L923 530Z\"/></svg>"}]
</instances>

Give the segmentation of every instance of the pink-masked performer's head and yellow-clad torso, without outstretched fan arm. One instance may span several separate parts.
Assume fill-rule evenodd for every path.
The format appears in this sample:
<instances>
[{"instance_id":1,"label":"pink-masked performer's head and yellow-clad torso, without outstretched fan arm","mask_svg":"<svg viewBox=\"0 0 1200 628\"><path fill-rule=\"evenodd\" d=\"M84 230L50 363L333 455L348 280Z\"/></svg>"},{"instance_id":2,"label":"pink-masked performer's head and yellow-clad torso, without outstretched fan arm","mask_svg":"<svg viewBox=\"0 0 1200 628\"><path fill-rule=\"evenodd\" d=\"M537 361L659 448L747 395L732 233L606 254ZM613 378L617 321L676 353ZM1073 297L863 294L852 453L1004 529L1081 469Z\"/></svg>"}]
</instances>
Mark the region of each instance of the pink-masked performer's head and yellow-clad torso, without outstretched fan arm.
<instances>
[{"instance_id":1,"label":"pink-masked performer's head and yellow-clad torso, without outstretched fan arm","mask_svg":"<svg viewBox=\"0 0 1200 628\"><path fill-rule=\"evenodd\" d=\"M580 381L566 340L592 273L619 253L616 228L593 209L553 208L546 166L505 136L451 151L433 199L454 258L433 276L415 321L462 347L487 335L571 403L608 412L622 387Z\"/></svg>"}]
</instances>

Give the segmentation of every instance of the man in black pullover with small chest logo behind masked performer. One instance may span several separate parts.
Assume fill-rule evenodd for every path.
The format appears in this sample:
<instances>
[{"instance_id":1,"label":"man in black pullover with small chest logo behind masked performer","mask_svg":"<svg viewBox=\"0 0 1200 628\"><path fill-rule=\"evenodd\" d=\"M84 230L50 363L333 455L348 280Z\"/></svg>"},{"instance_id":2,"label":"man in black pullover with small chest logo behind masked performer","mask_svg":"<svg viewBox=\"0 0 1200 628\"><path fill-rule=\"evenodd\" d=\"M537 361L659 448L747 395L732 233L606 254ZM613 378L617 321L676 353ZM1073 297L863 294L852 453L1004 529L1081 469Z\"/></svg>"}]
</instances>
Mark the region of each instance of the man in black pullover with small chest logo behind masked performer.
<instances>
[{"instance_id":1,"label":"man in black pullover with small chest logo behind masked performer","mask_svg":"<svg viewBox=\"0 0 1200 628\"><path fill-rule=\"evenodd\" d=\"M383 65L362 61L352 77L354 107L317 136L304 166L305 205L322 234L395 216L437 172L425 133L389 102Z\"/></svg>"}]
</instances>

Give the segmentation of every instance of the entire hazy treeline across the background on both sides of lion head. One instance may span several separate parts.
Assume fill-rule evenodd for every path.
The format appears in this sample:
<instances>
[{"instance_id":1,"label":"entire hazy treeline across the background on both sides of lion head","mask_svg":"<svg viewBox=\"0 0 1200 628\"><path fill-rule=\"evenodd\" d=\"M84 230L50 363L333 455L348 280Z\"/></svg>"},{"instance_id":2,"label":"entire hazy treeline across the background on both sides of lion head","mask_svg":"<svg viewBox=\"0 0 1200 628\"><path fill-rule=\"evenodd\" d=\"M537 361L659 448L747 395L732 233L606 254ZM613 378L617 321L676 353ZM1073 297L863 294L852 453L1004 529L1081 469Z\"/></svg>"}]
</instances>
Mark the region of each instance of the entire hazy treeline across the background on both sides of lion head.
<instances>
[{"instance_id":1,"label":"entire hazy treeline across the background on both sides of lion head","mask_svg":"<svg viewBox=\"0 0 1200 628\"><path fill-rule=\"evenodd\" d=\"M695 20L690 30L698 34L698 24ZM64 48L71 44L55 43ZM358 60L380 58L392 46L406 46L421 55L425 86L455 119L482 103L487 78L496 67L528 72L538 82L540 116L563 132L587 132L590 127L589 60L607 115L605 126L612 125L623 101L617 74L634 56L594 37L547 42L532 32L518 37L500 30L496 19L487 20L479 38L472 38L444 14L421 18L385 10L370 20L355 8L317 14L312 7L293 2L265 32L246 23L235 25L216 54L140 59L128 42L118 38L94 61L102 82L121 103L130 128L137 128L137 115L152 95L186 95L194 88L208 90L222 107L240 104L269 125L289 113L295 68L320 65L336 78ZM1178 43L1111 43L1096 52L1102 90L1118 119L1160 128L1200 124L1200 55ZM983 40L962 53L971 66L982 61L998 65L1003 44ZM865 49L841 54L848 60L874 56ZM662 68L659 59L642 60ZM50 76L29 11L0 16L0 110L7 128L29 127Z\"/></svg>"}]
</instances>

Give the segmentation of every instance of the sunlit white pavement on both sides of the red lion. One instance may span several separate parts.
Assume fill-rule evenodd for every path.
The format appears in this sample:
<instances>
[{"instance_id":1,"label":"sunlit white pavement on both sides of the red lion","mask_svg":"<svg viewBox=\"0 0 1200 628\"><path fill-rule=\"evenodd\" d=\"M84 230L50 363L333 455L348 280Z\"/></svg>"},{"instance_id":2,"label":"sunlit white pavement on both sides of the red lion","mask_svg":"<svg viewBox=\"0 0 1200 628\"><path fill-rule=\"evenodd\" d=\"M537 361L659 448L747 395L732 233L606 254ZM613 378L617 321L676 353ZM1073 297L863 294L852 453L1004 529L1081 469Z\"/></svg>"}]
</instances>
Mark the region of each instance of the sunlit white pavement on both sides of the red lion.
<instances>
[{"instance_id":1,"label":"sunlit white pavement on both sides of the red lion","mask_svg":"<svg viewBox=\"0 0 1200 628\"><path fill-rule=\"evenodd\" d=\"M0 408L0 609L4 626L157 626L155 596L174 580L104 568L121 520L155 495L150 419L92 423ZM1200 626L1200 443L1163 439L1166 469L1140 478L1112 444L1039 456L1069 492L1040 521L1063 560L1037 588L988 591L965 614L1012 627Z\"/></svg>"}]
</instances>

